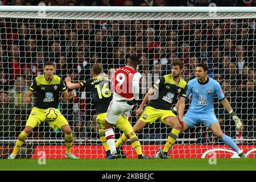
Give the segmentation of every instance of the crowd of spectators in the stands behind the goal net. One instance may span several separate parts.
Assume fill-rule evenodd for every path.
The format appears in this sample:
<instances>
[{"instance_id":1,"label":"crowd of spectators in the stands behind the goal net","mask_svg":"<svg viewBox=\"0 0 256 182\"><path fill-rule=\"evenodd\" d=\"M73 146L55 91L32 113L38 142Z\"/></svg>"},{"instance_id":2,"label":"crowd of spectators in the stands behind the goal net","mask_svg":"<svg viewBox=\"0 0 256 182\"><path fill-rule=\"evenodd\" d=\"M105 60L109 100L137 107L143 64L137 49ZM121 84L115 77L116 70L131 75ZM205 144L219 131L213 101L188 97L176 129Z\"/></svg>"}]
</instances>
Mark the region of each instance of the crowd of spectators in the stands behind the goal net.
<instances>
[{"instance_id":1,"label":"crowd of spectators in the stands behind the goal net","mask_svg":"<svg viewBox=\"0 0 256 182\"><path fill-rule=\"evenodd\" d=\"M256 5L256 1L249 3L245 0L40 2L48 6L208 6L210 2L217 6ZM29 6L39 2L2 0L0 3ZM63 80L71 76L78 82L90 78L93 64L101 63L105 74L110 76L114 68L125 65L127 57L133 54L141 60L138 71L144 76L141 101L146 94L143 89L152 85L157 75L171 73L173 60L183 61L185 81L195 78L197 63L207 63L208 76L220 82L226 98L243 121L242 131L236 131L230 115L216 98L214 108L222 130L232 138L255 138L255 22L255 19L110 21L0 18L0 138L16 137L24 127L32 108L32 104L23 102L24 94L33 78L42 74L46 61L56 63L56 75ZM59 108L73 126L76 138L98 138L93 101L89 92L82 91L76 90L72 102L62 99ZM129 114L131 122L135 123L134 111ZM45 125L38 128L38 131L44 131L42 135L35 130L31 136L61 135L49 130ZM139 138L165 139L168 133L170 129L155 122L145 128ZM197 138L196 143L217 142L206 127L194 127L179 138Z\"/></svg>"}]
</instances>

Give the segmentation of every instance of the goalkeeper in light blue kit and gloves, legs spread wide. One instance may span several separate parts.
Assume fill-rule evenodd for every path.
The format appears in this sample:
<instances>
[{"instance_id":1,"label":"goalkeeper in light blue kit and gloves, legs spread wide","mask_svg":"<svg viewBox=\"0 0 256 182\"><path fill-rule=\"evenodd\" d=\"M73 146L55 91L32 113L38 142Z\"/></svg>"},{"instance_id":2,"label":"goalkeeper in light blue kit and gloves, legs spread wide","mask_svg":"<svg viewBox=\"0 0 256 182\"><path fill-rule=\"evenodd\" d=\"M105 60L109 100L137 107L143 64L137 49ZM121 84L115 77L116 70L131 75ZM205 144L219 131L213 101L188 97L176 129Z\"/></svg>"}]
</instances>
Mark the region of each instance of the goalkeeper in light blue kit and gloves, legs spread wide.
<instances>
[{"instance_id":1,"label":"goalkeeper in light blue kit and gloves, legs spread wide","mask_svg":"<svg viewBox=\"0 0 256 182\"><path fill-rule=\"evenodd\" d=\"M196 77L188 82L188 90L186 98L192 94L192 101L187 114L184 115L183 120L180 122L185 123L183 130L190 129L193 126L200 125L210 127L214 135L222 139L230 148L237 152L240 158L246 158L242 150L237 147L237 144L227 135L221 131L220 123L214 114L213 101L216 94L221 100L221 104L230 113L236 127L242 127L240 118L234 113L229 101L225 98L220 84L207 77L208 67L205 64L198 64L196 66ZM179 104L177 104L179 105Z\"/></svg>"}]
</instances>

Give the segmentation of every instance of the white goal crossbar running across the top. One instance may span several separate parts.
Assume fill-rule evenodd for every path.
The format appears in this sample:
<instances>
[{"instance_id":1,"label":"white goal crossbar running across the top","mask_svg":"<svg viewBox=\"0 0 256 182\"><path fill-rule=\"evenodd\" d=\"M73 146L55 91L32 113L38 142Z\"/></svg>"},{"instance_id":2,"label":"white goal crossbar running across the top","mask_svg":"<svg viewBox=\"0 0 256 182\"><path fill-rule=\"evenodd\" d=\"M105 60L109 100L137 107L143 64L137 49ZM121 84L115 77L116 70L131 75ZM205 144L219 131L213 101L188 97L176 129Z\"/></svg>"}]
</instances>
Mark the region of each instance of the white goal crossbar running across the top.
<instances>
[{"instance_id":1,"label":"white goal crossbar running across the top","mask_svg":"<svg viewBox=\"0 0 256 182\"><path fill-rule=\"evenodd\" d=\"M256 7L0 6L0 18L39 19L240 19L255 18Z\"/></svg>"}]
</instances>

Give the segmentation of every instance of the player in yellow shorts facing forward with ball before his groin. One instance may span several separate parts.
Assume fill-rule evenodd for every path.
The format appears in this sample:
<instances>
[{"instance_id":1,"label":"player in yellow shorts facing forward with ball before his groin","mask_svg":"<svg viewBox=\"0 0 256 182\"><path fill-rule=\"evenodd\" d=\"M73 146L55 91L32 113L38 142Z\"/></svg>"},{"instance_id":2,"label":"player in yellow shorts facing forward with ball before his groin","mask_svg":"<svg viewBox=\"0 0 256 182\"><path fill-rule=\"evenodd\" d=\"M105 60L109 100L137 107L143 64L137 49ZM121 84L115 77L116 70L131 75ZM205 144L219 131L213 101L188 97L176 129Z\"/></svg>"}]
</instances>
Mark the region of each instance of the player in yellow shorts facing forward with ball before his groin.
<instances>
[{"instance_id":1,"label":"player in yellow shorts facing forward with ball before his groin","mask_svg":"<svg viewBox=\"0 0 256 182\"><path fill-rule=\"evenodd\" d=\"M71 154L71 147L73 143L72 130L65 119L65 117L60 114L59 109L59 93L62 92L66 100L71 100L73 98L73 92L68 92L67 88L63 84L63 80L59 76L54 75L55 64L48 61L44 64L44 74L37 76L24 99L25 102L29 103L33 93L35 93L35 105L31 110L31 114L28 117L26 127L19 134L16 140L13 153L8 157L8 159L15 159L19 148L24 143L27 136L31 133L34 127L39 126L43 121L47 121L45 111L49 107L55 108L57 117L54 121L47 121L49 126L53 129L61 129L65 133L65 156L69 159L79 159L75 155Z\"/></svg>"}]
</instances>

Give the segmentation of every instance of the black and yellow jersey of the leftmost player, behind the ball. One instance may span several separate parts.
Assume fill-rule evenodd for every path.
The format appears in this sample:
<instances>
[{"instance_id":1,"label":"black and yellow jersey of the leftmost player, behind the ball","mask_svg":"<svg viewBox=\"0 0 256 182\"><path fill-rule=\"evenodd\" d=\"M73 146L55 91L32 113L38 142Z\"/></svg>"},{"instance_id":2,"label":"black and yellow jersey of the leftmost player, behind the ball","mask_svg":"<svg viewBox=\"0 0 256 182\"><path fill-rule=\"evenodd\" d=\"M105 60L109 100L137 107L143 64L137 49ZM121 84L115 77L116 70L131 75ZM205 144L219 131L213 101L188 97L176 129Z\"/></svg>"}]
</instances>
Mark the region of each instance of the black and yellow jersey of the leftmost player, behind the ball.
<instances>
[{"instance_id":1,"label":"black and yellow jersey of the leftmost player, behind the ball","mask_svg":"<svg viewBox=\"0 0 256 182\"><path fill-rule=\"evenodd\" d=\"M40 109L59 105L59 93L67 90L63 80L59 76L53 75L51 81L47 81L44 75L35 77L30 88L35 94L35 106Z\"/></svg>"}]
</instances>

